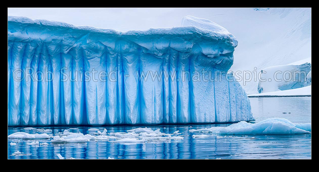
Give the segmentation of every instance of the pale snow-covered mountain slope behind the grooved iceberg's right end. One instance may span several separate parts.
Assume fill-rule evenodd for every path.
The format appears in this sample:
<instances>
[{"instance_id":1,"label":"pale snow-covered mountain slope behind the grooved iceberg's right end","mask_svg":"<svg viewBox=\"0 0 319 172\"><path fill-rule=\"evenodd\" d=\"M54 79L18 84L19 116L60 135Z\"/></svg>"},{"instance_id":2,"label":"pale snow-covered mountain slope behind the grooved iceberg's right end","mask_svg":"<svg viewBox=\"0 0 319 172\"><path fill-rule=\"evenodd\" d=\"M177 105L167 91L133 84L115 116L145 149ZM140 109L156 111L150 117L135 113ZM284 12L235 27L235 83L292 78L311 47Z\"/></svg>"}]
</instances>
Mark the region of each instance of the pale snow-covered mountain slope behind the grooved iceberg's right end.
<instances>
[{"instance_id":1,"label":"pale snow-covered mountain slope behind the grooved iceberg's right end","mask_svg":"<svg viewBox=\"0 0 319 172\"><path fill-rule=\"evenodd\" d=\"M230 11L229 13L233 13ZM253 71L286 65L311 57L311 8L254 8L231 14L227 28L238 39L232 71ZM243 85L243 82L240 82ZM258 93L258 81L243 85L248 94Z\"/></svg>"}]
</instances>

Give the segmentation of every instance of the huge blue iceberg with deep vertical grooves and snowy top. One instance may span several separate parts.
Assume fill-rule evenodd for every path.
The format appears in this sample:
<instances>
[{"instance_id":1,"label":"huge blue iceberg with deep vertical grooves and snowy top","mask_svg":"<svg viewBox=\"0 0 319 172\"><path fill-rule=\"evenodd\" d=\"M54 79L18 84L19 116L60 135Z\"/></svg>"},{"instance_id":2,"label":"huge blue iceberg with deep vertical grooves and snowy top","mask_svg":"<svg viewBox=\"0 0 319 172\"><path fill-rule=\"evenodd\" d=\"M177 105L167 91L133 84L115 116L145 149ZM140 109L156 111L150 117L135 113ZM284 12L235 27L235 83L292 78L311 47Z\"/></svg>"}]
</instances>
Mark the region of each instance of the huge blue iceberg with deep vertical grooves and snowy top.
<instances>
[{"instance_id":1,"label":"huge blue iceberg with deep vertical grooves and snowy top","mask_svg":"<svg viewBox=\"0 0 319 172\"><path fill-rule=\"evenodd\" d=\"M221 27L221 26L220 26ZM8 17L8 125L227 123L254 117L236 81L138 80L152 71L227 71L237 40L195 26L118 32L63 22ZM13 79L16 69L54 74L50 82ZM71 71L107 73L117 81L62 82ZM35 74L33 74L35 75ZM127 77L126 75L129 75ZM206 78L208 78L208 74ZM225 75L225 74L223 74ZM219 77L214 75L214 77Z\"/></svg>"}]
</instances>

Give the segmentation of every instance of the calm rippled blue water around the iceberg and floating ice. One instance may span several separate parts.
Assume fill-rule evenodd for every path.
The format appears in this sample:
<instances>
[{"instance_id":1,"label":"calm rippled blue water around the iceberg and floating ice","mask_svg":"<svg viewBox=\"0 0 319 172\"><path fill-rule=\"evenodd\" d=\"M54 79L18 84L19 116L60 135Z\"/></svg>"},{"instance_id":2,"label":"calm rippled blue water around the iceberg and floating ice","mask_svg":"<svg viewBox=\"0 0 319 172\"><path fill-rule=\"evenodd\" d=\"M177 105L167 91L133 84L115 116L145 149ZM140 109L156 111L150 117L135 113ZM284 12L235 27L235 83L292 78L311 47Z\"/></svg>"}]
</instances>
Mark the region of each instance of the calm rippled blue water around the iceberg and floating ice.
<instances>
[{"instance_id":1,"label":"calm rippled blue water around the iceberg and floating ice","mask_svg":"<svg viewBox=\"0 0 319 172\"><path fill-rule=\"evenodd\" d=\"M266 118L286 118L293 123L311 122L311 97L264 97L250 98L255 123ZM291 111L290 114L283 114ZM8 159L58 159L56 154L65 158L79 159L310 159L311 134L295 135L248 135L244 137L224 137L210 134L211 137L193 138L196 133L190 129L210 128L212 126L228 126L230 124L201 124L201 125L150 125L148 128L160 129L163 133L173 133L179 130L183 140L169 142L146 143L114 143L103 140L91 140L85 143L53 144L50 139L8 139ZM192 126L192 128L190 128ZM145 126L60 126L34 127L52 129L52 133L63 132L68 128L79 128L72 132L83 134L92 133L89 128L98 128L108 133L127 132L126 130ZM23 130L25 127L9 127L8 135L15 132L36 133L34 130ZM198 134L198 133L197 133ZM28 145L33 141L48 143L43 145ZM16 146L11 146L16 142ZM23 152L23 156L11 156L14 152Z\"/></svg>"}]
</instances>

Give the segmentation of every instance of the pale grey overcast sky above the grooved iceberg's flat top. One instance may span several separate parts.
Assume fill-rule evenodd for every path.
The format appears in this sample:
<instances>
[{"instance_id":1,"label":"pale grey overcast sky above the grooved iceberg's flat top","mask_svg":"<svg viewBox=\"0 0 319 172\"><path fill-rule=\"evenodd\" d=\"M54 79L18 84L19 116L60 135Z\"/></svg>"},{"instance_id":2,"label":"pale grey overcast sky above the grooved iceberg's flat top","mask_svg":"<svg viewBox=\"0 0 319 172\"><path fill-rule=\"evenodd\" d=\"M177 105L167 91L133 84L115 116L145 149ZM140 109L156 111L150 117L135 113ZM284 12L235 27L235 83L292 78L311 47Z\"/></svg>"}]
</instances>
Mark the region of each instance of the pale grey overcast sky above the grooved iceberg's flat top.
<instances>
[{"instance_id":1,"label":"pale grey overcast sky above the grooved iceberg's flat top","mask_svg":"<svg viewBox=\"0 0 319 172\"><path fill-rule=\"evenodd\" d=\"M180 26L184 16L214 21L226 8L8 8L8 15L64 21L119 31ZM224 16L225 17L225 16Z\"/></svg>"}]
</instances>

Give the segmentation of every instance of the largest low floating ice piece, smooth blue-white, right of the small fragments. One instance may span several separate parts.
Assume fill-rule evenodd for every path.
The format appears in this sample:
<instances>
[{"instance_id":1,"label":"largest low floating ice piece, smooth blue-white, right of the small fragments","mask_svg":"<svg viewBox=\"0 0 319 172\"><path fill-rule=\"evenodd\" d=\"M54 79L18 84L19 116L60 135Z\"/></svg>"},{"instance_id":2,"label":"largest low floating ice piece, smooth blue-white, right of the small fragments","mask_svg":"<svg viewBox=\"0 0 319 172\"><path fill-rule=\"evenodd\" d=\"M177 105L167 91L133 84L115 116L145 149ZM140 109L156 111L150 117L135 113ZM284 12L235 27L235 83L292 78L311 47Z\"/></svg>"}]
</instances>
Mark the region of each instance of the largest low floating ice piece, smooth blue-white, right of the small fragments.
<instances>
[{"instance_id":1,"label":"largest low floating ice piece, smooth blue-white, right of the small fragments","mask_svg":"<svg viewBox=\"0 0 319 172\"><path fill-rule=\"evenodd\" d=\"M211 127L218 134L305 134L311 133L311 123L293 124L284 118L268 118L259 123L241 121L227 127Z\"/></svg>"}]
</instances>

